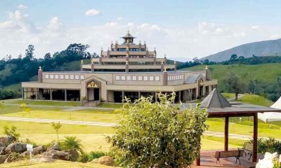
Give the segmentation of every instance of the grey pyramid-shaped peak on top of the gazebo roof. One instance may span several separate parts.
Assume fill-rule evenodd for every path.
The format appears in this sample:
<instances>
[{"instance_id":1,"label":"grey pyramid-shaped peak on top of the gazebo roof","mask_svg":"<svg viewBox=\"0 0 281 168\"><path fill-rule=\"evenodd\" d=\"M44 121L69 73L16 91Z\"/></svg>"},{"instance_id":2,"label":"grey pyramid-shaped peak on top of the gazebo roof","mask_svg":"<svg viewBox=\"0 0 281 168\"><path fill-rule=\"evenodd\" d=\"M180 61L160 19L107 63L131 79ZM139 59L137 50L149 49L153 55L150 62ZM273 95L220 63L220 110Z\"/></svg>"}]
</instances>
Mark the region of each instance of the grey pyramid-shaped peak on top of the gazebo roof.
<instances>
[{"instance_id":1,"label":"grey pyramid-shaped peak on top of the gazebo roof","mask_svg":"<svg viewBox=\"0 0 281 168\"><path fill-rule=\"evenodd\" d=\"M225 108L231 107L231 104L214 88L202 101L201 106L206 108Z\"/></svg>"}]
</instances>

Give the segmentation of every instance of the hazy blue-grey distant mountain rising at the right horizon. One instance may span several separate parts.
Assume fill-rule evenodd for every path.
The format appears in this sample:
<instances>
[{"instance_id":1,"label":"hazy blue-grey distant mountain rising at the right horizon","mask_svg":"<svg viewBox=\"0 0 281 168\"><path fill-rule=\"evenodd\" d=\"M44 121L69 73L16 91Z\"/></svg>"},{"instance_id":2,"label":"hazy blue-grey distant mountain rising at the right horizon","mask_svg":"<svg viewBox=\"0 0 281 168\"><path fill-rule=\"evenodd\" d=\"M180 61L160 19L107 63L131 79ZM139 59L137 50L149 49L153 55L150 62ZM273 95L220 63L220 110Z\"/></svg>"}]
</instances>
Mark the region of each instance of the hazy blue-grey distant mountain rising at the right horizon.
<instances>
[{"instance_id":1,"label":"hazy blue-grey distant mountain rising at the right horizon","mask_svg":"<svg viewBox=\"0 0 281 168\"><path fill-rule=\"evenodd\" d=\"M230 48L228 50L224 50L218 52L214 55L209 55L207 57L203 57L201 60L209 59L209 61L213 62L222 62L230 59L231 55L236 54L237 57L252 57L256 56L277 56L281 55L281 38L277 40L270 41L259 41L254 43L246 43L243 45L238 45L235 48Z\"/></svg>"}]
</instances>

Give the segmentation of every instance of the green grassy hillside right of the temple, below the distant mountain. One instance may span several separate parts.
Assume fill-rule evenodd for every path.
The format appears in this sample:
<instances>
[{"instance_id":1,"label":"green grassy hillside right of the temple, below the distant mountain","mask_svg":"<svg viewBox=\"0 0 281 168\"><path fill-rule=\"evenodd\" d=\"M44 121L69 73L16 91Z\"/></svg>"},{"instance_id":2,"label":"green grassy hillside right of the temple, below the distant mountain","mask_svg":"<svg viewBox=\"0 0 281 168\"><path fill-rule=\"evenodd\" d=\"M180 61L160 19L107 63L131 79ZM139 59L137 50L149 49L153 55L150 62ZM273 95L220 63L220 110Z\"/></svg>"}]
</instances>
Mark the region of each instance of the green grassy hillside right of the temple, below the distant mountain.
<instances>
[{"instance_id":1,"label":"green grassy hillside right of the temple, below the distant mountain","mask_svg":"<svg viewBox=\"0 0 281 168\"><path fill-rule=\"evenodd\" d=\"M202 70L205 65L193 66L182 70ZM211 77L218 79L218 88L224 90L223 80L229 73L235 73L244 83L249 83L250 80L256 78L257 83L275 83L278 76L281 76L281 64L231 64L222 65L215 64L210 65Z\"/></svg>"}]
</instances>

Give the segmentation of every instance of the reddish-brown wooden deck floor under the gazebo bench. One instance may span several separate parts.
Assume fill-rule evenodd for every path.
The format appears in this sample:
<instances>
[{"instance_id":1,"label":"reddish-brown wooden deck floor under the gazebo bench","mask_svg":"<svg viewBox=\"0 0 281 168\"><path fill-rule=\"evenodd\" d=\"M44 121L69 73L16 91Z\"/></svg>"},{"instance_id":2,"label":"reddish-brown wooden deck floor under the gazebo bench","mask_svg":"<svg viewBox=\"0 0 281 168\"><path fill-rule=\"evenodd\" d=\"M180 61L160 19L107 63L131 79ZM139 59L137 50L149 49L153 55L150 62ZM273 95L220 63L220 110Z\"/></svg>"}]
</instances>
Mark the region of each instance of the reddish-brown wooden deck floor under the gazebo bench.
<instances>
[{"instance_id":1,"label":"reddish-brown wooden deck floor under the gazebo bench","mask_svg":"<svg viewBox=\"0 0 281 168\"><path fill-rule=\"evenodd\" d=\"M243 156L240 158L241 165L239 165L239 161L235 163L235 158L221 158L221 165L216 164L216 159L214 158L216 151L201 151L201 166L192 166L192 168L210 168L210 167L240 167L240 168L249 168L254 167L256 164L249 161L249 155ZM258 159L263 158L263 156L258 155Z\"/></svg>"}]
</instances>

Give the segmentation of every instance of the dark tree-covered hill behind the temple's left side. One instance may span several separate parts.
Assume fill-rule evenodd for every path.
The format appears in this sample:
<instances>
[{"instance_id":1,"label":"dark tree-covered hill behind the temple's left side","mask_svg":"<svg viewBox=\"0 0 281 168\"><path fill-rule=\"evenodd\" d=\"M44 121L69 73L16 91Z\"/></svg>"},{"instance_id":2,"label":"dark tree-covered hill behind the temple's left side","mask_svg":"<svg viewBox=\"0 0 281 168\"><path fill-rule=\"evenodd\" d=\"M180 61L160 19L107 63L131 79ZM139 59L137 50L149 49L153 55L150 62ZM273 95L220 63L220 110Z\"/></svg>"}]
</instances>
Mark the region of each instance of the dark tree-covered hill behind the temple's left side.
<instances>
[{"instance_id":1,"label":"dark tree-covered hill behind the temple's left side","mask_svg":"<svg viewBox=\"0 0 281 168\"><path fill-rule=\"evenodd\" d=\"M35 59L35 48L33 45L29 45L25 52L25 57L19 55L17 59L11 59L11 57L1 59L0 88L22 81L34 80L39 66L44 71L77 70L81 59L98 57L96 53L87 52L87 48L89 48L89 45L74 43L63 51L55 52L53 55L46 53L44 58Z\"/></svg>"}]
</instances>

